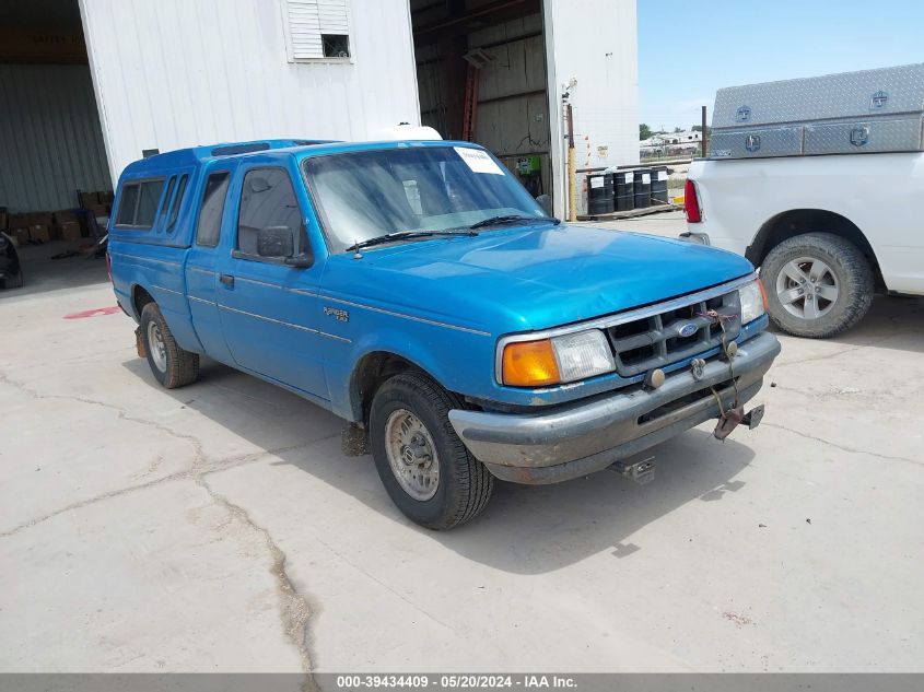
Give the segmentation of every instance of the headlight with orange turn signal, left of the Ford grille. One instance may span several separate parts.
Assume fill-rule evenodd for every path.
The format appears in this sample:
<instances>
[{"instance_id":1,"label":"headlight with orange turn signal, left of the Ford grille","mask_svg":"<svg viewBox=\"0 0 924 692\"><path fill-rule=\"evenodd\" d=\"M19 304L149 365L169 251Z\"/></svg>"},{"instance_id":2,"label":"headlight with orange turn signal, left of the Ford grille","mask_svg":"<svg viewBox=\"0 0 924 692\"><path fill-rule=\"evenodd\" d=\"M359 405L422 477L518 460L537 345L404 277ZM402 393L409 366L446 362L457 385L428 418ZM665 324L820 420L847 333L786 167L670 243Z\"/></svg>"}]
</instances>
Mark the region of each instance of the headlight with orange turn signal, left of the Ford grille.
<instances>
[{"instance_id":1,"label":"headlight with orange turn signal, left of the Ford grille","mask_svg":"<svg viewBox=\"0 0 924 692\"><path fill-rule=\"evenodd\" d=\"M616 370L603 331L590 329L504 347L502 382L512 387L557 385Z\"/></svg>"}]
</instances>

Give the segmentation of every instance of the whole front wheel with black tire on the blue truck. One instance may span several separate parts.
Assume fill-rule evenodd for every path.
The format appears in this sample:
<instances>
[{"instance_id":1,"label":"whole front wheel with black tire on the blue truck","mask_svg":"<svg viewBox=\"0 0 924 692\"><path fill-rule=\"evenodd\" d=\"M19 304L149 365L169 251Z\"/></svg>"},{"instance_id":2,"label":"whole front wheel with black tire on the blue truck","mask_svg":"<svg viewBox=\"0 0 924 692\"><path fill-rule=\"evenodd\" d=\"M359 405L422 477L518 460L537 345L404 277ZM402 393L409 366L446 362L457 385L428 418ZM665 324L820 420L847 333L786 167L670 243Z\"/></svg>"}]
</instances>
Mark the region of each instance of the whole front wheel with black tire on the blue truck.
<instances>
[{"instance_id":1,"label":"whole front wheel with black tire on the blue truck","mask_svg":"<svg viewBox=\"0 0 924 692\"><path fill-rule=\"evenodd\" d=\"M375 468L405 516L430 529L451 529L488 505L494 478L471 456L449 423L456 397L429 377L403 373L372 401Z\"/></svg>"}]
</instances>

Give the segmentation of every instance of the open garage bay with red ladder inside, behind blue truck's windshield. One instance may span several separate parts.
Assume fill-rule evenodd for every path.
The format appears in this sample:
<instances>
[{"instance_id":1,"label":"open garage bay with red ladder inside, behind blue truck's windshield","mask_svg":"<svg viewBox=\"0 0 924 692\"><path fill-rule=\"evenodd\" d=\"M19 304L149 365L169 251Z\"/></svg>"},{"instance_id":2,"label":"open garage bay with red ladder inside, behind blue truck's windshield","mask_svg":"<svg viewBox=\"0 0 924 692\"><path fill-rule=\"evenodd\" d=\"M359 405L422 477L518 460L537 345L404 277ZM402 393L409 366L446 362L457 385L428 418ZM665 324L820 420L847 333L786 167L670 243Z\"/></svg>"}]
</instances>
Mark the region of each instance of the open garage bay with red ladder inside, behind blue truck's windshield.
<instances>
[{"instance_id":1,"label":"open garage bay with red ladder inside, behind blue truck's windshield","mask_svg":"<svg viewBox=\"0 0 924 692\"><path fill-rule=\"evenodd\" d=\"M540 0L411 0L421 124L477 142L552 195Z\"/></svg>"}]
</instances>

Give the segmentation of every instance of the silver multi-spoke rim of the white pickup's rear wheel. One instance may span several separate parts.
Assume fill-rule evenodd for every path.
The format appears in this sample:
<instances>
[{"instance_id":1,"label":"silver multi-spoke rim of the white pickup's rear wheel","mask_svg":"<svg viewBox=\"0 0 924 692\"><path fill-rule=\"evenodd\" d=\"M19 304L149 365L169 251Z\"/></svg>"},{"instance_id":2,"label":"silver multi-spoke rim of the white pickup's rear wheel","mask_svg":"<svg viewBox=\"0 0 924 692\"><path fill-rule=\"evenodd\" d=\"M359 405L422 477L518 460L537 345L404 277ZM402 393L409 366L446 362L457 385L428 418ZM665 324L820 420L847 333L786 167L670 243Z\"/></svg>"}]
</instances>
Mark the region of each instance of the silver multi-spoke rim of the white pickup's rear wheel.
<instances>
[{"instance_id":1,"label":"silver multi-spoke rim of the white pickup's rear wheel","mask_svg":"<svg viewBox=\"0 0 924 692\"><path fill-rule=\"evenodd\" d=\"M824 317L841 295L838 274L817 257L798 257L776 274L776 297L791 315L799 319Z\"/></svg>"}]
</instances>

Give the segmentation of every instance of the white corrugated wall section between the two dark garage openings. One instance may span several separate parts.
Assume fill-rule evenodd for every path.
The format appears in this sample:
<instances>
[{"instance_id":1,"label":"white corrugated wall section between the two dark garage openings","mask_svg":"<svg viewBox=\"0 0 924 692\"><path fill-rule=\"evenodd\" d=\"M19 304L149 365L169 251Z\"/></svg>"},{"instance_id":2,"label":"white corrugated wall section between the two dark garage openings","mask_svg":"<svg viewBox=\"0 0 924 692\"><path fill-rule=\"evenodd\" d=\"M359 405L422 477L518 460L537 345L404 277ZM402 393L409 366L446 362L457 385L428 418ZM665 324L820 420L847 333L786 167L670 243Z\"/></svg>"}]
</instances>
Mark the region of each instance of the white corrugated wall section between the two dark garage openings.
<instances>
[{"instance_id":1,"label":"white corrugated wall section between the two dark garage openings","mask_svg":"<svg viewBox=\"0 0 924 692\"><path fill-rule=\"evenodd\" d=\"M144 149L420 124L407 0L348 0L349 61L289 62L283 0L80 0L113 179Z\"/></svg>"}]
</instances>

